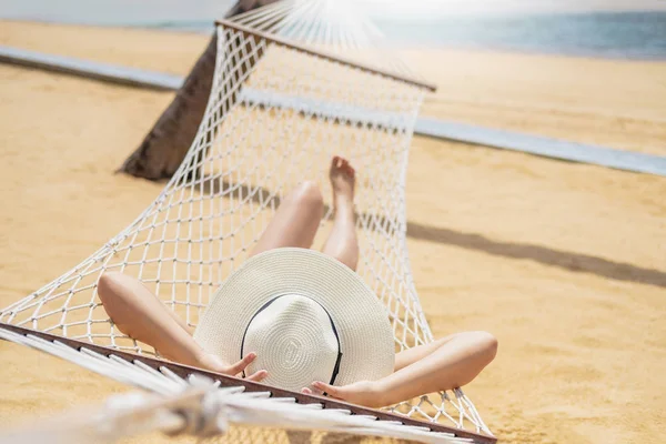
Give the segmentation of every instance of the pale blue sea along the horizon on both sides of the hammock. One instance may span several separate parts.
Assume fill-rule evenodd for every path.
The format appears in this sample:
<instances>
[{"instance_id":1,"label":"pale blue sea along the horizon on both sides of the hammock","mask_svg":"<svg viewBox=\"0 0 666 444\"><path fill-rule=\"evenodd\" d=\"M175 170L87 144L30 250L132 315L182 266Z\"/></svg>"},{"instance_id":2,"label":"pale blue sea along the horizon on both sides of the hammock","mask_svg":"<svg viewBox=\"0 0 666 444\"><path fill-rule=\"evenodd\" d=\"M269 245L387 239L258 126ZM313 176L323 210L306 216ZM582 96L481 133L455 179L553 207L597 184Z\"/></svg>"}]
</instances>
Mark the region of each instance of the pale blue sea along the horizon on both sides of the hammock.
<instances>
[{"instance_id":1,"label":"pale blue sea along the horizon on both sides of the hammock","mask_svg":"<svg viewBox=\"0 0 666 444\"><path fill-rule=\"evenodd\" d=\"M210 33L213 17L180 19L169 13L145 20L142 12L123 19L72 11L0 19L97 27ZM9 17L8 17L9 16ZM491 50L601 59L666 60L666 11L565 11L452 14L448 17L385 17L373 20L390 43L401 48Z\"/></svg>"}]
</instances>

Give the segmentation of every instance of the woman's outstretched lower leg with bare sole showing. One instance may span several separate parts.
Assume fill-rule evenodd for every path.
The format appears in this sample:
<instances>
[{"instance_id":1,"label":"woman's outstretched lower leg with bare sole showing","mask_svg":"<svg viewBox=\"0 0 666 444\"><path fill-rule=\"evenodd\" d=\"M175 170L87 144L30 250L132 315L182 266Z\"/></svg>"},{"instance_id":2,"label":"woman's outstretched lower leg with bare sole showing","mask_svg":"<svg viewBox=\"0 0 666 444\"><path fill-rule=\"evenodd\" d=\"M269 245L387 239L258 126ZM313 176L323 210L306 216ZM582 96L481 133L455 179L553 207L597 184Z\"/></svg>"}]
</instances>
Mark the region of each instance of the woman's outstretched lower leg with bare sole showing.
<instances>
[{"instance_id":1,"label":"woman's outstretched lower leg with bare sole showing","mask_svg":"<svg viewBox=\"0 0 666 444\"><path fill-rule=\"evenodd\" d=\"M333 229L322 252L337 259L340 262L356 271L359 264L359 239L354 219L354 183L355 171L350 162L340 157L331 161L331 186L333 189L333 205L335 219Z\"/></svg>"}]
</instances>

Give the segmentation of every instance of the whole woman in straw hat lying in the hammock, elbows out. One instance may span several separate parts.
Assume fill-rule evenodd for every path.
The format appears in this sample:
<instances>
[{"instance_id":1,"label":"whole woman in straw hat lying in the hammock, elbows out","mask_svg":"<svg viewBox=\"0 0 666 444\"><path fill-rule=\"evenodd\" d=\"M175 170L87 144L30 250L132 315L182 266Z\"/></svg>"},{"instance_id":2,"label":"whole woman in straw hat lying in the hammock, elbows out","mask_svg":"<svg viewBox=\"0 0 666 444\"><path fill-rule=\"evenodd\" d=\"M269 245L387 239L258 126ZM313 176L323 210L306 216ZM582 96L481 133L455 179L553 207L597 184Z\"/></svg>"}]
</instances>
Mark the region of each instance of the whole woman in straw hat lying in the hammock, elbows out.
<instances>
[{"instance_id":1,"label":"whole woman in straw hat lying in the hammock, elbows out","mask_svg":"<svg viewBox=\"0 0 666 444\"><path fill-rule=\"evenodd\" d=\"M206 316L219 316L212 320L213 323L219 324L219 327L213 326L212 331L209 329L206 332L195 333L196 340L192 336L191 329L175 313L133 278L111 272L100 278L98 292L104 309L121 332L153 346L164 357L226 375L248 373L248 379L251 381L265 380L266 383L271 383L273 373L282 372L282 370L271 369L271 362L282 360L285 361L286 367L296 369L299 360L310 359L311 364L307 365L317 369L312 370L312 373L307 373L310 370L305 369L305 380L296 382L295 384L302 384L296 385L297 387L293 385L294 374L287 375L286 380L292 381L291 389L301 390L304 393L325 392L330 396L354 404L371 407L391 405L422 394L452 390L470 383L495 357L497 341L490 333L456 333L394 355L393 332L383 305L370 289L364 286L360 276L352 272L356 270L359 262L353 203L354 175L355 172L346 160L337 157L333 159L330 171L335 209L333 228L323 246L323 254L310 250L307 251L310 255L305 254L306 259L311 259L317 264L322 261L332 262L333 266L323 266L316 272L325 274L330 272L327 269L331 269L331 273L336 276L332 282L340 283L339 280L343 280L345 294L341 295L340 291L327 289L323 293L332 292L333 296L301 297L299 294L307 292L307 290L296 291L294 289L295 294L285 295L282 292L280 295L266 300L268 302L262 301L261 307L256 305L258 310L254 310L253 313L244 314L245 316L251 315L251 317L240 321L243 314L230 313L226 315L226 313L243 309L243 294L250 292L239 292L236 281L248 280L248 278L235 279L232 274L220 292L226 291L224 290L225 285L233 286L232 290L229 290L235 291L232 296L233 303L229 304L224 311L215 312L212 306L218 300L222 301L225 297L219 293L209 307L211 313L204 314L199 329L206 321ZM278 255L286 254L289 256L291 254L289 258L295 259L285 261L282 256L281 265L273 264L271 266L299 266L301 270L314 273L310 270L309 263L305 266L303 264L290 265L292 262L297 262L299 258L303 256L301 252L305 252L305 250L285 248L310 249L320 226L323 211L323 201L317 185L312 182L301 184L283 200L273 220L251 252L250 258L252 259L249 259L245 264L254 261L253 264L249 264L250 270L266 268L260 263L262 262L261 256L270 256L274 251ZM320 265L312 265L315 269L317 266ZM240 270L238 272L243 274ZM272 273L272 271L268 271L268 273ZM275 279L278 285L285 281L281 278ZM299 285L309 279L317 281L317 275L299 279ZM355 280L361 283L354 282ZM232 283L228 285L230 281ZM254 279L254 284L256 281ZM324 281L326 280L321 279L321 283L315 282L314 284L325 286ZM244 285L251 287L252 284L245 283ZM367 289L370 296L364 294L364 289ZM319 290L315 289L314 293L316 292ZM360 295L354 296L353 300L342 301L351 294L350 292ZM248 295L248 297L251 296ZM330 297L331 304L326 302L326 297ZM273 303L274 301L280 302ZM349 310L350 306L353 310ZM297 326L303 324L299 321L304 319L320 321ZM343 325L344 321L351 322L351 326ZM206 322L210 324L211 320L209 319ZM279 331L271 331L273 324L279 322L283 322L284 325L279 327ZM226 329L226 333L220 333L215 329L220 331ZM292 332L302 334L302 337L283 341L282 345L284 346L278 340L275 340L278 343L263 341L266 337L270 340L292 334L283 333L286 331L285 329L311 330L304 333ZM220 345L221 347L233 345L236 350L229 353L212 352L211 349L218 350L215 349L218 345L210 345L211 337L220 335L221 341L226 343ZM262 340L256 335L265 337ZM259 339L254 340L254 336ZM229 341L224 341L226 339ZM311 339L314 341L312 350L309 351L312 356L303 357L301 355L307 347L303 344L309 343ZM263 346L264 342L269 342L269 345ZM239 344L240 349L238 349ZM357 346L357 349L351 351L350 347L353 346ZM261 357L265 357L265 360ZM239 359L240 361L235 362ZM261 365L264 364L266 366L262 367ZM323 366L323 369L319 369L319 366ZM313 379L307 380L307 377Z\"/></svg>"}]
</instances>

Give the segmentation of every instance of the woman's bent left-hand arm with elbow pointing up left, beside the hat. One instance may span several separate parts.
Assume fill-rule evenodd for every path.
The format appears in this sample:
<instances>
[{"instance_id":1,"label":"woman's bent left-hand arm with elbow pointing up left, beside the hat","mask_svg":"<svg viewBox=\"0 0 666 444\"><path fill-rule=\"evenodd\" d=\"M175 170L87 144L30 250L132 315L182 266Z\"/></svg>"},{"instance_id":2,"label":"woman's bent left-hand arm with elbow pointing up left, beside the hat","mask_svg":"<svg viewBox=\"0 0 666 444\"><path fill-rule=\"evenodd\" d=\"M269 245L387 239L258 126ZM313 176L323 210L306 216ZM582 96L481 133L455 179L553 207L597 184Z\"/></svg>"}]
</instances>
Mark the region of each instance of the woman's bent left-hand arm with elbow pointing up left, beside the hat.
<instances>
[{"instance_id":1,"label":"woman's bent left-hand arm with elbow pointing up left, beside the hat","mask_svg":"<svg viewBox=\"0 0 666 444\"><path fill-rule=\"evenodd\" d=\"M134 278L117 272L104 273L98 282L98 294L109 317L121 332L154 347L171 361L235 375L256 357L250 353L242 361L229 365L204 352L192 337L189 326ZM249 379L261 381L266 374L260 371Z\"/></svg>"}]
</instances>

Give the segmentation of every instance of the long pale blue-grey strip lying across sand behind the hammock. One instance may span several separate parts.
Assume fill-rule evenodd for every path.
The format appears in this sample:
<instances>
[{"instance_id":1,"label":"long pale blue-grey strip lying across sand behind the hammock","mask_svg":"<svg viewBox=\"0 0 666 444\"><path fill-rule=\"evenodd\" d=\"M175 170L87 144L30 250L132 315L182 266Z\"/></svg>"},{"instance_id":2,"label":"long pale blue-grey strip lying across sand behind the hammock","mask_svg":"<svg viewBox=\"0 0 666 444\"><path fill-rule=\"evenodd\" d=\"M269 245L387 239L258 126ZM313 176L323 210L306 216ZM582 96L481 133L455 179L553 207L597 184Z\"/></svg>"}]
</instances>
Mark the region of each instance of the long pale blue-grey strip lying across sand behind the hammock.
<instances>
[{"instance_id":1,"label":"long pale blue-grey strip lying across sand behind the hammock","mask_svg":"<svg viewBox=\"0 0 666 444\"><path fill-rule=\"evenodd\" d=\"M183 78L179 75L91 62L62 56L44 54L2 46L0 46L0 62L157 90L178 90L183 83ZM261 91L248 91L248 94L245 95L248 95L245 99L252 102L265 102L274 105L280 105L284 102L282 104L285 108L301 109L306 107L314 110L322 108L321 104L310 103L305 99L276 97L275 94L269 95ZM327 110L332 109L330 105L325 108ZM349 110L344 109L345 114L347 114L347 111ZM354 120L359 111L362 110L352 110L351 114L346 115L347 119ZM390 114L377 113L376 111L374 113L377 119L381 120L392 119ZM666 157L663 155L582 144L539 135L430 118L418 119L414 128L414 133L457 142L519 151L569 162L591 163L617 170L666 176Z\"/></svg>"}]
</instances>

